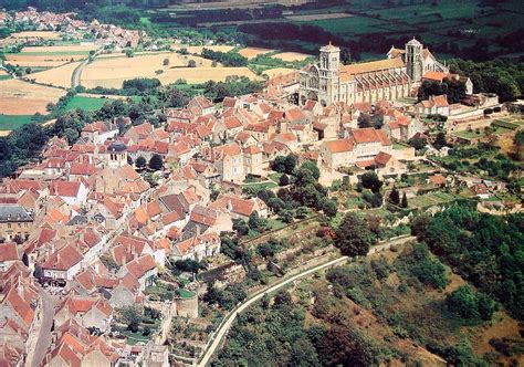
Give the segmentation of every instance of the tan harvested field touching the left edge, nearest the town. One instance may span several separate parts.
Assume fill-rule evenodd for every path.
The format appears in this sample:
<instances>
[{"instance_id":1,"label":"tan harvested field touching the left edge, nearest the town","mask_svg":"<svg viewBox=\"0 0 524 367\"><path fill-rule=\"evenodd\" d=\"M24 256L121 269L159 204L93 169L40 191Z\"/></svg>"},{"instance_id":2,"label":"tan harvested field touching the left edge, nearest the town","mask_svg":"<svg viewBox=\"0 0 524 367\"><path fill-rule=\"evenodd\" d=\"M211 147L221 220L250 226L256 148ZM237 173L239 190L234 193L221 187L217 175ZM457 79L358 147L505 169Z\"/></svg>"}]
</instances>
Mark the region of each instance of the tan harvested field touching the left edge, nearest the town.
<instances>
[{"instance_id":1,"label":"tan harvested field touching the left edge, nearest the town","mask_svg":"<svg viewBox=\"0 0 524 367\"><path fill-rule=\"evenodd\" d=\"M33 115L45 114L45 106L55 103L65 91L31 84L19 80L0 82L0 114Z\"/></svg>"}]
</instances>

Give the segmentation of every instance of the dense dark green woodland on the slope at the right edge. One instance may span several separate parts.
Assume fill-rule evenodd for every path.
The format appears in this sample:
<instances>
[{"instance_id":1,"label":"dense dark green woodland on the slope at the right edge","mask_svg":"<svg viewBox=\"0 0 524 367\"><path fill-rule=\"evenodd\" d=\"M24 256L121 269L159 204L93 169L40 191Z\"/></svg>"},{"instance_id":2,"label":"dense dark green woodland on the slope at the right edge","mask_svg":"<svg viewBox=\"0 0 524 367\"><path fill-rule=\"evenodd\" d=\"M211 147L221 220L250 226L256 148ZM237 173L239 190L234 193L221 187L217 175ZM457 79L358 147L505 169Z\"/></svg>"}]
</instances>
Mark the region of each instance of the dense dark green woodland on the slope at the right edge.
<instances>
[{"instance_id":1,"label":"dense dark green woodland on the slope at the right edge","mask_svg":"<svg viewBox=\"0 0 524 367\"><path fill-rule=\"evenodd\" d=\"M454 272L524 319L524 216L495 217L467 205L413 221L413 234Z\"/></svg>"}]
</instances>

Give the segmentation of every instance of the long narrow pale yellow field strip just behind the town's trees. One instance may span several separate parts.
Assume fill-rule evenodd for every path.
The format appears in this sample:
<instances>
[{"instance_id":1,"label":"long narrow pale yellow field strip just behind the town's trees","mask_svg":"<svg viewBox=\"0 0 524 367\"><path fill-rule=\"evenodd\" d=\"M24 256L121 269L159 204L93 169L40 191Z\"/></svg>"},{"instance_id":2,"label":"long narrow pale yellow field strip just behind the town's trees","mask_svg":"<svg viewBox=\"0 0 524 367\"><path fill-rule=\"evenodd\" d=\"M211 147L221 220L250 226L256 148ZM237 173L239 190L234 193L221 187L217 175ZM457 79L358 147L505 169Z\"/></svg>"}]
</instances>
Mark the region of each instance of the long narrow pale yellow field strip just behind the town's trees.
<instances>
[{"instance_id":1,"label":"long narrow pale yellow field strip just behind the town's trees","mask_svg":"<svg viewBox=\"0 0 524 367\"><path fill-rule=\"evenodd\" d=\"M85 72L85 70L84 70ZM138 71L139 72L139 71ZM119 75L119 74L115 74ZM186 80L190 84L197 83L206 83L207 81L216 81L216 82L223 82L230 75L238 75L238 76L248 76L252 80L260 80L260 77L250 71L248 67L211 67L211 66L203 66L203 67L176 67L166 70L164 73L157 75L153 74L144 74L139 73L133 76L117 76L111 77L111 75L106 75L105 78L85 78L84 73L82 73L82 85L91 88L95 86L105 86L105 87L122 87L122 83L125 80L134 78L134 77L156 77L163 84L171 84L177 82L180 78Z\"/></svg>"}]
</instances>

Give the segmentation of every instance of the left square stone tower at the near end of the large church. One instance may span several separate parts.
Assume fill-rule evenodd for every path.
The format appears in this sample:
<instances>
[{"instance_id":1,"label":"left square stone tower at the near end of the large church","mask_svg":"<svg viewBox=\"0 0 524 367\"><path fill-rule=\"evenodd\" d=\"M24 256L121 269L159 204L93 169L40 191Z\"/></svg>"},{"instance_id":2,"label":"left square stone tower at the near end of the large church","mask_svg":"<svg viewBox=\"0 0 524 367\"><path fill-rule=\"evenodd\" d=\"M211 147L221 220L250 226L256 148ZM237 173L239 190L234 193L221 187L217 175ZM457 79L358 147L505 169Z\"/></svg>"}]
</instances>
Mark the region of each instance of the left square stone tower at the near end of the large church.
<instances>
[{"instance_id":1,"label":"left square stone tower at the near end of the large church","mask_svg":"<svg viewBox=\"0 0 524 367\"><path fill-rule=\"evenodd\" d=\"M339 70L340 49L329 42L321 49L318 101L324 106L338 101Z\"/></svg>"}]
</instances>

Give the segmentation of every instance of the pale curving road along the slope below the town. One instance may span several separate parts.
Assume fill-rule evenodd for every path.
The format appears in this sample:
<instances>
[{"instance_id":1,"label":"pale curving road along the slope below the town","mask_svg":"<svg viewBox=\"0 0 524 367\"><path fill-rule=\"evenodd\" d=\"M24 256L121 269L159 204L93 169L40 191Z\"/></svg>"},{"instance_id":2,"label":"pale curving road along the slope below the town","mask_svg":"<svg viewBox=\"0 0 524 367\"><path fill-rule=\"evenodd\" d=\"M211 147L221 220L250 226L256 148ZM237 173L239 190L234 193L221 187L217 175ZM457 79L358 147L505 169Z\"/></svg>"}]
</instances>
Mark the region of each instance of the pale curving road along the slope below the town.
<instances>
[{"instance_id":1,"label":"pale curving road along the slope below the town","mask_svg":"<svg viewBox=\"0 0 524 367\"><path fill-rule=\"evenodd\" d=\"M402 243L406 243L406 242L409 242L409 241L412 241L415 240L415 237L402 237L402 238L399 238L399 239L396 239L396 240L392 240L392 241L388 241L388 242L384 242L381 244L378 244L376 247L373 247L371 249L369 249L369 252L368 252L368 255L370 254L374 254L374 253L377 253L377 252L381 252L384 250L387 250L389 249L390 247L395 245L395 244L402 244ZM337 264L340 264L340 263L344 263L346 262L347 260L349 260L348 256L340 256L338 259L335 259L335 260L332 260L329 262L326 262L322 265L317 265L315 268L312 268L310 270L306 270L302 273L298 273L296 275L293 275L291 276L290 279L285 280L285 281L282 281L281 283L277 283L277 284L274 284L268 289L264 289L258 293L255 293L253 296L251 296L251 298L247 300L244 303L242 303L241 305L237 306L230 314L228 321L226 323L222 324L222 326L220 327L220 329L217 332L216 334L216 337L213 339L213 342L211 343L210 347L208 348L208 350L206 352L202 360L199 363L199 366L201 367L205 367L209 364L209 361L211 360L211 357L213 356L213 354L216 353L217 348L219 347L222 338L227 335L227 333L229 332L229 329L231 328L231 325L233 324L234 319L237 318L237 316L239 315L239 313L245 311L249 306L251 306L253 303L255 303L256 301L259 301L260 298L262 298L266 293L272 293L274 291L277 291L286 285L289 285L290 283L298 280L298 279L302 279L302 277L305 277L307 275L311 275L313 273L316 273L321 270L324 270L324 269L327 269L329 266L334 266L334 265L337 265Z\"/></svg>"}]
</instances>

